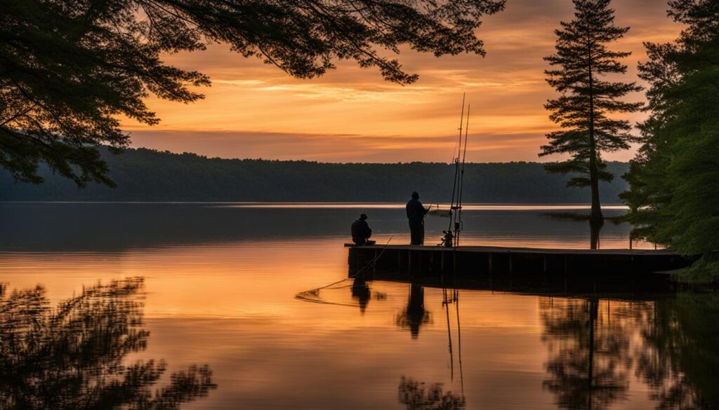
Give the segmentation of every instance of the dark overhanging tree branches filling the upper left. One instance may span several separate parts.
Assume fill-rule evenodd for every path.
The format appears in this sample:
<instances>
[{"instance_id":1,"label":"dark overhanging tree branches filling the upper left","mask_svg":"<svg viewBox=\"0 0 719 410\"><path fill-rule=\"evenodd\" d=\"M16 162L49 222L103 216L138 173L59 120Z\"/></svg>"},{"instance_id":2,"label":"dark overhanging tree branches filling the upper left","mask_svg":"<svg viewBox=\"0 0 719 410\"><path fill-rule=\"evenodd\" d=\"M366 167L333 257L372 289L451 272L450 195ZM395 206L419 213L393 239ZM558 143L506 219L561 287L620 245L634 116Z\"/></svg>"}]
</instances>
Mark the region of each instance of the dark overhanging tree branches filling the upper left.
<instances>
[{"instance_id":1,"label":"dark overhanging tree branches filling the upper left","mask_svg":"<svg viewBox=\"0 0 719 410\"><path fill-rule=\"evenodd\" d=\"M0 0L0 167L42 182L44 162L77 185L113 185L97 146L128 146L117 116L159 119L150 93L189 103L209 78L163 53L224 42L298 78L336 60L377 67L385 80L417 75L382 50L484 55L481 17L504 0Z\"/></svg>"}]
</instances>

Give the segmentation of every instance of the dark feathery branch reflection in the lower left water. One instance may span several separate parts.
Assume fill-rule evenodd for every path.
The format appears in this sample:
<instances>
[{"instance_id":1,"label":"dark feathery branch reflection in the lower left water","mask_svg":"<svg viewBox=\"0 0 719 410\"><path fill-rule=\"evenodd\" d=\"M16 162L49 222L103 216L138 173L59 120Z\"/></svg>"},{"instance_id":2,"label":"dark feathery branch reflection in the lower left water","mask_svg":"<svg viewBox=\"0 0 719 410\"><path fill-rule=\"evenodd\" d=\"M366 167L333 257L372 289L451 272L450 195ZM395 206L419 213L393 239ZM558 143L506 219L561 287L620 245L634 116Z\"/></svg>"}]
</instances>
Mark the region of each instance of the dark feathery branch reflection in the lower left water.
<instances>
[{"instance_id":1,"label":"dark feathery branch reflection in the lower left water","mask_svg":"<svg viewBox=\"0 0 719 410\"><path fill-rule=\"evenodd\" d=\"M206 365L156 388L164 362L123 364L150 335L141 288L141 278L96 284L55 308L42 286L0 292L0 408L169 410L216 388Z\"/></svg>"}]
</instances>

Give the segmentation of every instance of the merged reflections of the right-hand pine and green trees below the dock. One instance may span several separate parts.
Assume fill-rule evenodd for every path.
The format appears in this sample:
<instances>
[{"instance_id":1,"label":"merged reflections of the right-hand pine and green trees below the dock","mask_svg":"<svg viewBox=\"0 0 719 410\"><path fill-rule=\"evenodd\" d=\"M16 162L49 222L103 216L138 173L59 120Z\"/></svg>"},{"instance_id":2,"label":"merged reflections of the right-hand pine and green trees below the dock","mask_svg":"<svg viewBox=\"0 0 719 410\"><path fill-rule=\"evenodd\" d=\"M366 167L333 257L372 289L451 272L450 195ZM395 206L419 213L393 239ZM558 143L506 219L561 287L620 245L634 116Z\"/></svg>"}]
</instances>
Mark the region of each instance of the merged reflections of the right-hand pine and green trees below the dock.
<instances>
[{"instance_id":1,"label":"merged reflections of the right-hand pine and green trees below the dock","mask_svg":"<svg viewBox=\"0 0 719 410\"><path fill-rule=\"evenodd\" d=\"M626 399L630 373L656 409L717 409L719 296L654 301L541 298L549 354L544 387L564 409L606 409Z\"/></svg>"}]
</instances>

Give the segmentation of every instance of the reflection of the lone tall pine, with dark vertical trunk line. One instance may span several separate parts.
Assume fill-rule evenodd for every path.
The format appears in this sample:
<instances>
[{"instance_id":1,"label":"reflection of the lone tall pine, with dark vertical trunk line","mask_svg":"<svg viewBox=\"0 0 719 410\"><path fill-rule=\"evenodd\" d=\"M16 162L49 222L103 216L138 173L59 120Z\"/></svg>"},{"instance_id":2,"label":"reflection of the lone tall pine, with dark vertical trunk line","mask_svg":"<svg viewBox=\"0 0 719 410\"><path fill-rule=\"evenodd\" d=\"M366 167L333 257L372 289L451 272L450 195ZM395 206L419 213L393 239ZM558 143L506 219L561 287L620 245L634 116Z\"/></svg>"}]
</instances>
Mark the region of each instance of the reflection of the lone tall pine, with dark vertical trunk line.
<instances>
[{"instance_id":1,"label":"reflection of the lone tall pine, with dark vertical trunk line","mask_svg":"<svg viewBox=\"0 0 719 410\"><path fill-rule=\"evenodd\" d=\"M619 323L600 320L597 299L542 299L549 350L544 387L564 409L604 409L628 388L628 337Z\"/></svg>"}]
</instances>

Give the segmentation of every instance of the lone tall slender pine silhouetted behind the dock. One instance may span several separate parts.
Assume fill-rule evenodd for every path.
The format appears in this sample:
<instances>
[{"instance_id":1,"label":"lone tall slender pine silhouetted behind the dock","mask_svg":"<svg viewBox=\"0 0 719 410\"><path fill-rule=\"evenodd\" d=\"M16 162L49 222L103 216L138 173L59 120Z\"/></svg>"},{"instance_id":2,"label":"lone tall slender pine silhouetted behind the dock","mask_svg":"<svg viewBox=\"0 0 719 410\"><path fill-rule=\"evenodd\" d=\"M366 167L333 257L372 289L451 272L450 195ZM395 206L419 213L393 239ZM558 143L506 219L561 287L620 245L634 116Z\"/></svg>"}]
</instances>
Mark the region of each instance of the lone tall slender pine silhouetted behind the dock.
<instances>
[{"instance_id":1,"label":"lone tall slender pine silhouetted behind the dock","mask_svg":"<svg viewBox=\"0 0 719 410\"><path fill-rule=\"evenodd\" d=\"M540 157L549 154L571 154L564 162L546 165L549 172L578 174L567 186L590 187L592 211L590 221L603 221L599 198L599 181L611 181L601 152L628 149L631 126L628 121L609 118L610 113L638 111L641 103L620 101L624 95L641 90L635 83L602 80L607 74L626 73L619 62L630 52L614 52L606 45L623 37L629 27L614 25L610 0L574 0L574 20L561 22L557 34L557 54L545 57L559 69L545 70L546 81L562 95L544 106L552 111L549 118L562 131L547 134L549 144L541 146Z\"/></svg>"}]
</instances>

